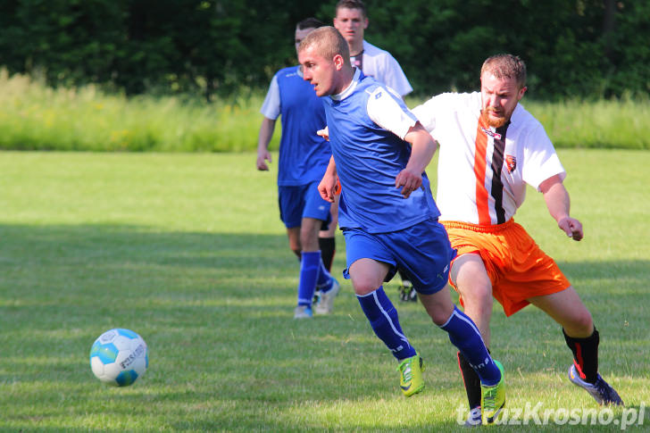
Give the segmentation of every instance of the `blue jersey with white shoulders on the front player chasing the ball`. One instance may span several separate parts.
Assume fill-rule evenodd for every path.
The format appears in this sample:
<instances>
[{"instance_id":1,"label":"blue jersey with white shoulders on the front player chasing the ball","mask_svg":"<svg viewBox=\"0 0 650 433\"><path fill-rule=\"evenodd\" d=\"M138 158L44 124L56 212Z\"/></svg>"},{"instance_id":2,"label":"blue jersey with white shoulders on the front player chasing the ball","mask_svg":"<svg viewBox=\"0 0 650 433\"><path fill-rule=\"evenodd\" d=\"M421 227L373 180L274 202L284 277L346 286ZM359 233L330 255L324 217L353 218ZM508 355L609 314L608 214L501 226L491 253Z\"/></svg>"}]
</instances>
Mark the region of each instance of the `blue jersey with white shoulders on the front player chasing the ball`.
<instances>
[{"instance_id":1,"label":"blue jersey with white shoulders on the front player chasing the ball","mask_svg":"<svg viewBox=\"0 0 650 433\"><path fill-rule=\"evenodd\" d=\"M341 229L387 233L440 215L426 173L422 174L422 186L408 198L395 186L397 174L411 156L411 145L371 120L369 98L382 97L393 98L412 124L417 121L401 98L358 71L340 97L321 98L342 187L338 208Z\"/></svg>"}]
</instances>

